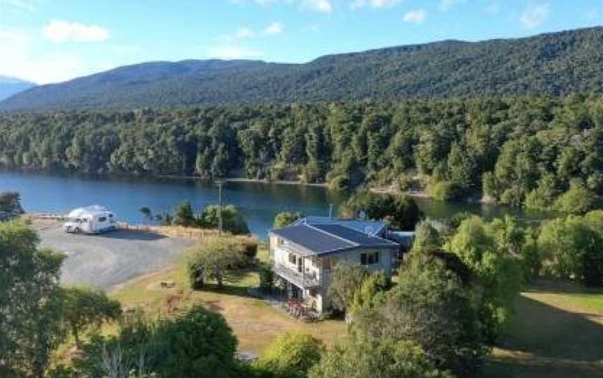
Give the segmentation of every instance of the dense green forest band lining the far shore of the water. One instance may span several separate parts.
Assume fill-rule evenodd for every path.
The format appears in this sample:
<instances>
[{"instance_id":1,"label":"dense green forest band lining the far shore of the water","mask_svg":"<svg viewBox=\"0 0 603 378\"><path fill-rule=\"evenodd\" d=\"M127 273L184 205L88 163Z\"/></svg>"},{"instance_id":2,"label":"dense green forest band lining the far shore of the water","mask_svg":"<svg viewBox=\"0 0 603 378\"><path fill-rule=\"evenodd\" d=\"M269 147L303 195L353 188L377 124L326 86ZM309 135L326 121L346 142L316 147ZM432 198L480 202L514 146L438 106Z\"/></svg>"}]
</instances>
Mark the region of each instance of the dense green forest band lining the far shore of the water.
<instances>
[{"instance_id":1,"label":"dense green forest band lining the far shore of the water","mask_svg":"<svg viewBox=\"0 0 603 378\"><path fill-rule=\"evenodd\" d=\"M572 95L0 115L0 165L419 185L585 213L603 195L603 98Z\"/></svg>"}]
</instances>

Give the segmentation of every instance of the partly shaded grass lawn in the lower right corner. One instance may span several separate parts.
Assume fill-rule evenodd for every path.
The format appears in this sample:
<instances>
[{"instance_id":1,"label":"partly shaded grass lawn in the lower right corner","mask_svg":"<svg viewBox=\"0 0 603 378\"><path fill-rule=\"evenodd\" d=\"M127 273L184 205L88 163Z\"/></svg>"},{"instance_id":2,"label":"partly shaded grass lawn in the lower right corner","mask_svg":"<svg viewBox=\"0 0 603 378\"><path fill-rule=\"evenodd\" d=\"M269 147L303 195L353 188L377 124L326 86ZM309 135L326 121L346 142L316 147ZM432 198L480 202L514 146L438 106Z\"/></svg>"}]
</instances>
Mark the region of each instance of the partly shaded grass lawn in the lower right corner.
<instances>
[{"instance_id":1,"label":"partly shaded grass lawn in the lower right corner","mask_svg":"<svg viewBox=\"0 0 603 378\"><path fill-rule=\"evenodd\" d=\"M603 377L603 290L538 282L521 293L484 377Z\"/></svg>"}]
</instances>

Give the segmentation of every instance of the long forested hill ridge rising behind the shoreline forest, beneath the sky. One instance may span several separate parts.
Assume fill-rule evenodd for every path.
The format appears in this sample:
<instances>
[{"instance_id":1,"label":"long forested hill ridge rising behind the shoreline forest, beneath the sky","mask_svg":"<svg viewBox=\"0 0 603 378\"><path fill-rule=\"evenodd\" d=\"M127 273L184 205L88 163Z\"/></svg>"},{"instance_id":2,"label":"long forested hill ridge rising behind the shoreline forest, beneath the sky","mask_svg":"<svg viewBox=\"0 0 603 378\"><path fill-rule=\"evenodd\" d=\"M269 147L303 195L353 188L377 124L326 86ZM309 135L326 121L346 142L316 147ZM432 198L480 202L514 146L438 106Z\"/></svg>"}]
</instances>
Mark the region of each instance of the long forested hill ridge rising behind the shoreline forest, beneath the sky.
<instances>
[{"instance_id":1,"label":"long forested hill ridge rising behind the shoreline forest, beneath the sky","mask_svg":"<svg viewBox=\"0 0 603 378\"><path fill-rule=\"evenodd\" d=\"M520 39L443 41L304 64L151 62L39 86L0 110L182 107L313 100L603 91L603 27Z\"/></svg>"}]
</instances>

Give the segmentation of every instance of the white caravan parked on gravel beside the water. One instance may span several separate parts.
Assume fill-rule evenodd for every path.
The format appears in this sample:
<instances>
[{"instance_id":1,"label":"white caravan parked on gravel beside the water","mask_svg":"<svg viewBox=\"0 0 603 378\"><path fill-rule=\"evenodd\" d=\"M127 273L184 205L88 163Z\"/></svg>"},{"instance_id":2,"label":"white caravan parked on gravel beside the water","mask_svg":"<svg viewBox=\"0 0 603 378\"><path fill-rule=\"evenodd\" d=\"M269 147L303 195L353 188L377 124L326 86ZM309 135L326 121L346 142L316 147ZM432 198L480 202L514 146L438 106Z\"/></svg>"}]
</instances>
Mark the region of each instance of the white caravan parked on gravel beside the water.
<instances>
[{"instance_id":1,"label":"white caravan parked on gravel beside the water","mask_svg":"<svg viewBox=\"0 0 603 378\"><path fill-rule=\"evenodd\" d=\"M114 214L103 206L80 207L67 215L67 222L63 225L66 232L75 234L100 234L113 231L117 228Z\"/></svg>"}]
</instances>

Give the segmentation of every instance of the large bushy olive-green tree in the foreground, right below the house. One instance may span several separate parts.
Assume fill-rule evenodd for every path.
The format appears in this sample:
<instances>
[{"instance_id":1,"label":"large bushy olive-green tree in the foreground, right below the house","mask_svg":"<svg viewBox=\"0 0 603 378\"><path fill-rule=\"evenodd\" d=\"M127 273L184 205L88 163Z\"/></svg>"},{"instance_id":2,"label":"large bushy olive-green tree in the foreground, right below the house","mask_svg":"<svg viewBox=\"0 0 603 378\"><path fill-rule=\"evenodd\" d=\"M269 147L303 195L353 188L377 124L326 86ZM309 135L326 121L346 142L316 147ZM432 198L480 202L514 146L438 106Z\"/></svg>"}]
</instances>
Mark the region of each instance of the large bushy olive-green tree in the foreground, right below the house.
<instances>
[{"instance_id":1,"label":"large bushy olive-green tree in the foreground, right below the house","mask_svg":"<svg viewBox=\"0 0 603 378\"><path fill-rule=\"evenodd\" d=\"M489 343L479 288L470 282L454 255L412 252L398 285L378 298L373 309L357 312L352 330L368 340L416 343L436 368L471 375Z\"/></svg>"}]
</instances>

